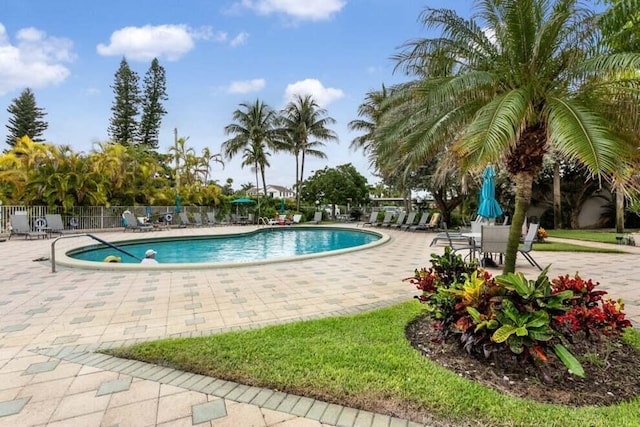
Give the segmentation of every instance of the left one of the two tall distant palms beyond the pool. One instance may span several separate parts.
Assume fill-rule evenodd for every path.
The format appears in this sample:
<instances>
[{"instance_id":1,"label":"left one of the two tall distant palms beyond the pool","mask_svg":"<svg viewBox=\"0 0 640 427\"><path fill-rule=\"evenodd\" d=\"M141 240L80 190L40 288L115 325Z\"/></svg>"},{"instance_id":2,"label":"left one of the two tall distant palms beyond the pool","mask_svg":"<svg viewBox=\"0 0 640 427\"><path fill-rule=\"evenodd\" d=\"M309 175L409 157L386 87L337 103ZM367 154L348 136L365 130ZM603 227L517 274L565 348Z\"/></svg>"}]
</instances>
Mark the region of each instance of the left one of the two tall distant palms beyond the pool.
<instances>
[{"instance_id":1,"label":"left one of the two tall distant palms beyond the pool","mask_svg":"<svg viewBox=\"0 0 640 427\"><path fill-rule=\"evenodd\" d=\"M243 152L243 155L251 153L250 164L254 164L256 174L259 172L262 176L262 187L266 195L265 168L269 166L267 157L270 155L268 150L277 149L279 135L276 113L259 99L253 104L242 103L240 107L233 112L234 123L224 128L226 135L234 137L222 143L222 152L228 159L239 152ZM246 156L244 157L243 165L246 163Z\"/></svg>"}]
</instances>

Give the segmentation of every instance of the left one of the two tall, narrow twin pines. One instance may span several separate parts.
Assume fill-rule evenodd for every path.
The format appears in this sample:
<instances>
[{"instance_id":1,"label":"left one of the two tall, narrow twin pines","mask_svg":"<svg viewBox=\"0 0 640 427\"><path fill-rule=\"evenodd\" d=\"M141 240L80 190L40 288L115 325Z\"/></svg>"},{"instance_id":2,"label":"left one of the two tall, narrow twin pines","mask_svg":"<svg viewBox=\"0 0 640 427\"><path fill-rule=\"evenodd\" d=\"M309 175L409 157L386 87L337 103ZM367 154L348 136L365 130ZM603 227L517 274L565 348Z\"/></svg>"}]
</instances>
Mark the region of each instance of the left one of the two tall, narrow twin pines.
<instances>
[{"instance_id":1,"label":"left one of the two tall, narrow twin pines","mask_svg":"<svg viewBox=\"0 0 640 427\"><path fill-rule=\"evenodd\" d=\"M122 145L131 145L136 140L140 106L138 80L138 74L129 68L126 58L122 58L111 86L115 99L111 106L113 115L109 122L109 137L113 142Z\"/></svg>"}]
</instances>

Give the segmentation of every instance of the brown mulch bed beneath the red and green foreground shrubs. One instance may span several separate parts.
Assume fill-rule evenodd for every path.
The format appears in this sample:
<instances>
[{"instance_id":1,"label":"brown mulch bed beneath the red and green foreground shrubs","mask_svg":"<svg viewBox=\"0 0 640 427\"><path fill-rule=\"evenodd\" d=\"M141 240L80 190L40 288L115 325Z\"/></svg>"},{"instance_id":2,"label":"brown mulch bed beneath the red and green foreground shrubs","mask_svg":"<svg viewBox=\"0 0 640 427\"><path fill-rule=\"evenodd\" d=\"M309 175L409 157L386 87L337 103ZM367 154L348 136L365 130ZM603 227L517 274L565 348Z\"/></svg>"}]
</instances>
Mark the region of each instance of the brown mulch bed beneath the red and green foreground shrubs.
<instances>
[{"instance_id":1,"label":"brown mulch bed beneath the red and green foreground shrubs","mask_svg":"<svg viewBox=\"0 0 640 427\"><path fill-rule=\"evenodd\" d=\"M425 357L510 396L570 406L604 406L640 395L640 352L620 338L600 345L584 341L569 348L585 369L586 378L579 378L555 357L542 369L515 360L496 364L474 358L462 349L457 336L441 342L426 316L407 326L406 337Z\"/></svg>"}]
</instances>

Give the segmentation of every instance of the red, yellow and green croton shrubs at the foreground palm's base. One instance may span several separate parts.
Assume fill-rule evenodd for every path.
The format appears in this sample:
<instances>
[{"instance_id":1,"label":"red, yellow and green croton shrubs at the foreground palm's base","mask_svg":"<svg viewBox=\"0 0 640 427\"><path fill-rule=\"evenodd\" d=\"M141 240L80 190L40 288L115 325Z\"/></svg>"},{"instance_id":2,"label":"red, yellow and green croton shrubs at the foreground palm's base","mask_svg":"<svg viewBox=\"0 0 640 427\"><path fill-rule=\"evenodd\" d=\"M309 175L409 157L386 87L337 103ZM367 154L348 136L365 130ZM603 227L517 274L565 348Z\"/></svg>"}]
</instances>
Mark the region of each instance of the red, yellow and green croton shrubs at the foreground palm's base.
<instances>
[{"instance_id":1,"label":"red, yellow and green croton shrubs at the foreground palm's base","mask_svg":"<svg viewBox=\"0 0 640 427\"><path fill-rule=\"evenodd\" d=\"M620 334L631 323L620 300L604 298L599 284L576 274L553 281L548 267L536 280L522 273L496 276L465 263L450 248L431 256L431 268L416 270L410 281L422 291L434 327L444 340L455 334L476 357L511 360L541 366L555 355L571 373L584 376L565 345L579 339Z\"/></svg>"}]
</instances>

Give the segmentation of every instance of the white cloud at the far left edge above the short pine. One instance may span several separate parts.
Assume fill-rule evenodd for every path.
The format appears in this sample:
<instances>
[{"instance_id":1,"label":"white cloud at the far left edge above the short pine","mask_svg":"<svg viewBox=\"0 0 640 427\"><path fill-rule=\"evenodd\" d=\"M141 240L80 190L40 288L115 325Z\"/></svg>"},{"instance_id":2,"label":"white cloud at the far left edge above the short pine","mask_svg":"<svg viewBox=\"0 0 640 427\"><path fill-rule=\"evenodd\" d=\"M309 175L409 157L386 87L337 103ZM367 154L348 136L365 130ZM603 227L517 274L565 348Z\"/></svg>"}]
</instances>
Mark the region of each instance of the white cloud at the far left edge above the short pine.
<instances>
[{"instance_id":1,"label":"white cloud at the far left edge above the short pine","mask_svg":"<svg viewBox=\"0 0 640 427\"><path fill-rule=\"evenodd\" d=\"M69 39L24 28L16 33L16 44L12 45L0 24L0 95L24 87L59 84L71 74L64 63L74 59L73 42Z\"/></svg>"}]
</instances>

